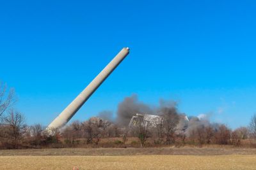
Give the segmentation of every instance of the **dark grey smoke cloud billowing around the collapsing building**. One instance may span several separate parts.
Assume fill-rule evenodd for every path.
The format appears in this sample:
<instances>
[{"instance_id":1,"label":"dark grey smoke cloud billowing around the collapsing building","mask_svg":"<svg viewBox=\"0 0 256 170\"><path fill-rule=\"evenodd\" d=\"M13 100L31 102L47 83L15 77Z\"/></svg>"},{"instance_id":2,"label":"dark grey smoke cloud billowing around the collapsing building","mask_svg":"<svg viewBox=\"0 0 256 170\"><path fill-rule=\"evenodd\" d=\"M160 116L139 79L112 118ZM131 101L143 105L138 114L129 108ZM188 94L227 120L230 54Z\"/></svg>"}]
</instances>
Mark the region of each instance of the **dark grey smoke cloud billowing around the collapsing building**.
<instances>
[{"instance_id":1,"label":"dark grey smoke cloud billowing around the collapsing building","mask_svg":"<svg viewBox=\"0 0 256 170\"><path fill-rule=\"evenodd\" d=\"M178 121L177 131L184 132L188 136L198 127L218 126L217 124L211 124L209 122L210 114L202 114L198 117L188 117L185 113L179 112L178 105L175 101L165 101L161 99L159 101L159 106L152 106L139 101L136 94L131 97L125 97L124 101L118 104L116 118L113 118L113 113L111 111L102 111L99 113L99 117L115 122L121 127L127 127L132 116L135 116L136 113L159 115L167 119L175 118Z\"/></svg>"}]
</instances>

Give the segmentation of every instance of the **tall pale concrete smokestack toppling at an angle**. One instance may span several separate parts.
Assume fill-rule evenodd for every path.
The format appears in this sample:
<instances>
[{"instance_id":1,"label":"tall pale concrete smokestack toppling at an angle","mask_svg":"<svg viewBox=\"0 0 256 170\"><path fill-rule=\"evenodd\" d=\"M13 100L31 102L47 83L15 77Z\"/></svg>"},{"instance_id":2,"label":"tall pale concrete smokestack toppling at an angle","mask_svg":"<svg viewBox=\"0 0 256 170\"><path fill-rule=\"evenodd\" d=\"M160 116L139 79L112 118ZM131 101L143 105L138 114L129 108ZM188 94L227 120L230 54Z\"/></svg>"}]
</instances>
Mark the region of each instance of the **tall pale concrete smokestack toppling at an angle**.
<instances>
[{"instance_id":1,"label":"tall pale concrete smokestack toppling at an angle","mask_svg":"<svg viewBox=\"0 0 256 170\"><path fill-rule=\"evenodd\" d=\"M129 54L129 48L123 48L116 57L109 62L96 78L86 87L86 89L79 94L72 103L70 103L65 110L63 110L58 117L56 117L47 129L63 127L67 122L76 114L76 112L83 106L83 104L92 96L93 92L103 83L109 74L111 74L115 68L125 59Z\"/></svg>"}]
</instances>

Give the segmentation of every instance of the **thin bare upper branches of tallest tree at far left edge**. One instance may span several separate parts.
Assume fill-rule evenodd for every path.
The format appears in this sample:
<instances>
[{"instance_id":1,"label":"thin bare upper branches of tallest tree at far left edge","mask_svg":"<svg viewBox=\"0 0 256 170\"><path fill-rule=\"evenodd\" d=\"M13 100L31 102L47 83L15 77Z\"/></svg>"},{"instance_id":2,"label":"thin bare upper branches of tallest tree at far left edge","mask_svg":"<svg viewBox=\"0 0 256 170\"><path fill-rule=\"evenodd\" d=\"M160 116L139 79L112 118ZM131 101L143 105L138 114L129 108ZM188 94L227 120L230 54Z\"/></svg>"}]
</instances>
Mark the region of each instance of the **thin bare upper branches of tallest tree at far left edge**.
<instances>
[{"instance_id":1,"label":"thin bare upper branches of tallest tree at far left edge","mask_svg":"<svg viewBox=\"0 0 256 170\"><path fill-rule=\"evenodd\" d=\"M15 103L15 91L7 90L7 86L0 82L0 118L3 119L5 111L7 111L13 103Z\"/></svg>"}]
</instances>

